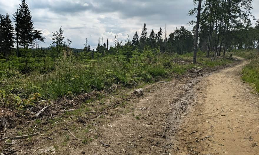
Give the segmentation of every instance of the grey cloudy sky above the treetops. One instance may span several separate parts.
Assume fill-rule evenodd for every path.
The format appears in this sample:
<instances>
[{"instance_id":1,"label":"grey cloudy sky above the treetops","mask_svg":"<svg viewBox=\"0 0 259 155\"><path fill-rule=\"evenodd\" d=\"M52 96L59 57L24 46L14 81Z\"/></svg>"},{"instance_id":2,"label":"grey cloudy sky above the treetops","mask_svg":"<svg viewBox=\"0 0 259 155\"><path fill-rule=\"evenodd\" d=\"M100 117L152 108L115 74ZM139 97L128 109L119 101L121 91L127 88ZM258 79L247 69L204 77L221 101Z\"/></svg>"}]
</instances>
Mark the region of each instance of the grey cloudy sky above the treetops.
<instances>
[{"instance_id":1,"label":"grey cloudy sky above the treetops","mask_svg":"<svg viewBox=\"0 0 259 155\"><path fill-rule=\"evenodd\" d=\"M144 22L148 33L162 27L170 34L176 27L195 19L187 16L193 9L192 0L27 0L34 22L34 29L43 30L47 38L40 47L52 43L52 32L62 26L66 38L72 40L72 47L83 48L85 38L96 48L99 38L109 39L112 45L114 34L125 41L135 31L141 32ZM0 0L0 13L14 14L20 0ZM253 1L252 13L259 17L259 1ZM165 36L165 35L164 35ZM102 41L101 41L102 42Z\"/></svg>"}]
</instances>

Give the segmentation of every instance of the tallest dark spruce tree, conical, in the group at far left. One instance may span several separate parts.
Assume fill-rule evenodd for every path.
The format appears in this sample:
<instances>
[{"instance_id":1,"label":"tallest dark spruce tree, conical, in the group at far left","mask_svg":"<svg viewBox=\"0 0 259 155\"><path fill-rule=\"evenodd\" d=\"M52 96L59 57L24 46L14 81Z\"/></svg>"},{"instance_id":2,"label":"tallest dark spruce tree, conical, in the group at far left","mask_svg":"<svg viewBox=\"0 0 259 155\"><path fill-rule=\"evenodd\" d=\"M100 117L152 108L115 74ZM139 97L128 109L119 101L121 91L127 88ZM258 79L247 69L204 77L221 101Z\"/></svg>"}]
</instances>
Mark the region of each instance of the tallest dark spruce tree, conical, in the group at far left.
<instances>
[{"instance_id":1,"label":"tallest dark spruce tree, conical, in the group at far left","mask_svg":"<svg viewBox=\"0 0 259 155\"><path fill-rule=\"evenodd\" d=\"M19 44L25 49L34 44L31 11L29 10L29 6L25 0L21 1L18 14L16 14L16 16L16 29L19 29L17 31Z\"/></svg>"}]
</instances>

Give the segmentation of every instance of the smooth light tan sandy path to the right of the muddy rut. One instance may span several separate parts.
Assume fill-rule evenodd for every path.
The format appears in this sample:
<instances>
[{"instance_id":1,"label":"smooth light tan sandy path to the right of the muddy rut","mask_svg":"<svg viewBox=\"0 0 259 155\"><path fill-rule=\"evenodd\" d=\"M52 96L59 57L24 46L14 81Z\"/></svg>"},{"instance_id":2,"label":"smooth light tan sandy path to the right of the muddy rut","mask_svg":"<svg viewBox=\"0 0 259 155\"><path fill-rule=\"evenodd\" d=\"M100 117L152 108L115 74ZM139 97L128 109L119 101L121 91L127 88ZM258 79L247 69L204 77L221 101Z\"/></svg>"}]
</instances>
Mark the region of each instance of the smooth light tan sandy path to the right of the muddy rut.
<instances>
[{"instance_id":1,"label":"smooth light tan sandy path to the right of the muddy rut","mask_svg":"<svg viewBox=\"0 0 259 155\"><path fill-rule=\"evenodd\" d=\"M259 97L240 79L246 63L215 72L197 85L204 89L197 91L196 105L177 132L175 153L259 154ZM189 135L192 131L197 132Z\"/></svg>"}]
</instances>

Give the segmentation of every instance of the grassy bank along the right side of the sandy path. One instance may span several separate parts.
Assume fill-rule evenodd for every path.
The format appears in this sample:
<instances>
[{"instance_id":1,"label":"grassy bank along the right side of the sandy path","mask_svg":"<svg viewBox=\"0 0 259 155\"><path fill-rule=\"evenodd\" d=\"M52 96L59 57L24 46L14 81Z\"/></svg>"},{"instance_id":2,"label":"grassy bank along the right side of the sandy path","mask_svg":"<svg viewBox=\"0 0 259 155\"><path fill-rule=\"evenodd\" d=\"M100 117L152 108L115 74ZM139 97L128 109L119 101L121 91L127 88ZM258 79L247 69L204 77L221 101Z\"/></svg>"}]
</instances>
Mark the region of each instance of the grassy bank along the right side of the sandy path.
<instances>
[{"instance_id":1,"label":"grassy bank along the right side of the sandy path","mask_svg":"<svg viewBox=\"0 0 259 155\"><path fill-rule=\"evenodd\" d=\"M257 50L235 50L233 55L250 60L242 70L242 80L251 83L259 92L259 51Z\"/></svg>"}]
</instances>

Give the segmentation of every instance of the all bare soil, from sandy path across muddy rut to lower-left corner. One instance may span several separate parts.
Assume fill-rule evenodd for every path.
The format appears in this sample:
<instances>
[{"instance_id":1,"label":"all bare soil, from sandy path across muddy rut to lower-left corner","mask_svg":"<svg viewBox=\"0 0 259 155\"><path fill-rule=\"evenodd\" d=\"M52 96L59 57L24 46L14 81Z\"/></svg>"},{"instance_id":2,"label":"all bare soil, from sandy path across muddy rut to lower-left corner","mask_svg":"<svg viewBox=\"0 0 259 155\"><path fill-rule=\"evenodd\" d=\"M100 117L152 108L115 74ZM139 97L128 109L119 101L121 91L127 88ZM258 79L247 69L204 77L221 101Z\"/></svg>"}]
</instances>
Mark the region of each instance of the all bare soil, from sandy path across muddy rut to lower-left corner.
<instances>
[{"instance_id":1,"label":"all bare soil, from sandy path across muddy rut to lower-left corner","mask_svg":"<svg viewBox=\"0 0 259 155\"><path fill-rule=\"evenodd\" d=\"M84 119L91 125L87 131L76 117L60 116L59 123L44 127L38 136L0 144L5 152L15 148L13 154L259 154L259 96L240 79L246 63L151 84L141 97L127 90L114 96L117 103L112 96L103 105L90 103L109 108L80 116L90 118ZM85 137L89 141L82 144Z\"/></svg>"}]
</instances>

